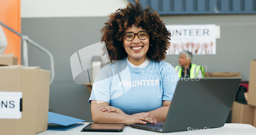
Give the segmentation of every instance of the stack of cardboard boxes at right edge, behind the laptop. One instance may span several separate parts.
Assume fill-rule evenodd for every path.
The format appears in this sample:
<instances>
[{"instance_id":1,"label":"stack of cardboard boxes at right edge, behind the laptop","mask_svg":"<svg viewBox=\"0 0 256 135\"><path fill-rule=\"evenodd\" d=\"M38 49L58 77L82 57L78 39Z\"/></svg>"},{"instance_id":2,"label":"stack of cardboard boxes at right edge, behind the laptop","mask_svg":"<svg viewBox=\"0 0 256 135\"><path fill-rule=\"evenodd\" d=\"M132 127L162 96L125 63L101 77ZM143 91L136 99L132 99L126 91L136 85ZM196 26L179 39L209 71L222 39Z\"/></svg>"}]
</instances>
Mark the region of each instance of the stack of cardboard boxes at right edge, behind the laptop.
<instances>
[{"instance_id":1,"label":"stack of cardboard boxes at right edge, behind the laptop","mask_svg":"<svg viewBox=\"0 0 256 135\"><path fill-rule=\"evenodd\" d=\"M251 124L256 127L256 60L251 61L247 104L233 103L232 123Z\"/></svg>"}]
</instances>

